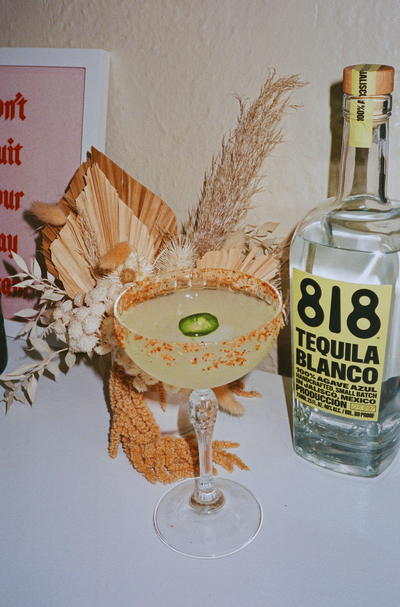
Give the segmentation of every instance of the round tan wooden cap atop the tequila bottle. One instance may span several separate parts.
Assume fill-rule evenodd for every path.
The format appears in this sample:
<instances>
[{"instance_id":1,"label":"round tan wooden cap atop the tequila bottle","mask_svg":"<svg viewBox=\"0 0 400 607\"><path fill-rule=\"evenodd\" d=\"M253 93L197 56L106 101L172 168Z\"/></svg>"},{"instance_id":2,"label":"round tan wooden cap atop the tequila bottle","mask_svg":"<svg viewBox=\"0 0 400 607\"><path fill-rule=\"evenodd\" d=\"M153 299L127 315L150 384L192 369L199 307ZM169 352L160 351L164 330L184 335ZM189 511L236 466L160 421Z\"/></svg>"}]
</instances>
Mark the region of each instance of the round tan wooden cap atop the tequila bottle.
<instances>
[{"instance_id":1,"label":"round tan wooden cap atop the tequila bottle","mask_svg":"<svg viewBox=\"0 0 400 607\"><path fill-rule=\"evenodd\" d=\"M343 70L343 92L347 95L389 95L393 86L394 68L390 65L360 63Z\"/></svg>"}]
</instances>

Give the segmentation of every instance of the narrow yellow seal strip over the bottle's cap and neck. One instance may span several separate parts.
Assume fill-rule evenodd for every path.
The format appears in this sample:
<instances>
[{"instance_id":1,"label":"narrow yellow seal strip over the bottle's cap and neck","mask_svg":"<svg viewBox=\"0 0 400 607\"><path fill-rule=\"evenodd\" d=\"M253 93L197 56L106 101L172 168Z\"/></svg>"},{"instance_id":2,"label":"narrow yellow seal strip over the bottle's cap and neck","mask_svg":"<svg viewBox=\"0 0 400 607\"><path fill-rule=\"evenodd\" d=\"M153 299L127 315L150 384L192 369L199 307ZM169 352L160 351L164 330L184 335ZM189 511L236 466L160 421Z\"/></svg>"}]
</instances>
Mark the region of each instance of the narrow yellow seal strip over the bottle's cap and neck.
<instances>
[{"instance_id":1,"label":"narrow yellow seal strip over the bottle's cap and neck","mask_svg":"<svg viewBox=\"0 0 400 607\"><path fill-rule=\"evenodd\" d=\"M352 70L351 94L357 97L350 101L350 141L352 147L370 148L372 145L372 120L376 95L376 72L379 64L361 63Z\"/></svg>"}]
</instances>

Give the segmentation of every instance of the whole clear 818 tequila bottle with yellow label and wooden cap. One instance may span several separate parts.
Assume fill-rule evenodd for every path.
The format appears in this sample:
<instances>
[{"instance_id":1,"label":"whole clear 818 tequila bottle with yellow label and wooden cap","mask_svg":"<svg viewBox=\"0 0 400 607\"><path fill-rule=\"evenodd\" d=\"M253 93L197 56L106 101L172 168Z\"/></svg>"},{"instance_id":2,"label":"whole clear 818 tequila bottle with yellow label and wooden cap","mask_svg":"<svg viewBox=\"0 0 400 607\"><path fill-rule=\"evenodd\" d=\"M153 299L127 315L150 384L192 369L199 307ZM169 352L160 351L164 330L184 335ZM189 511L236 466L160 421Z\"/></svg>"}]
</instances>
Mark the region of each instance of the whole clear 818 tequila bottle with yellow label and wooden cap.
<instances>
[{"instance_id":1,"label":"whole clear 818 tequila bottle with yellow label and wooden cap","mask_svg":"<svg viewBox=\"0 0 400 607\"><path fill-rule=\"evenodd\" d=\"M291 243L294 449L376 476L400 438L400 205L386 195L394 69L345 68L340 192Z\"/></svg>"}]
</instances>

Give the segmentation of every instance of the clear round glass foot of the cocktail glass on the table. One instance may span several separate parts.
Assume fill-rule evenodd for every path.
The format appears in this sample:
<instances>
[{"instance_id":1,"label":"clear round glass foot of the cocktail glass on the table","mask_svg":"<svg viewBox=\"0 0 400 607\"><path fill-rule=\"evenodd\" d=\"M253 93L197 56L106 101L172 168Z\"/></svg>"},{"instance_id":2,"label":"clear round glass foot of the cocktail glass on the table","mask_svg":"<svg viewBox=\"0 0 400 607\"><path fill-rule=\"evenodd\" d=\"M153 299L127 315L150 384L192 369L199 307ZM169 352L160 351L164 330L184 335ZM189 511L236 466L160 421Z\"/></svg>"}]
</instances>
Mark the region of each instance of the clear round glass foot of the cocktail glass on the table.
<instances>
[{"instance_id":1,"label":"clear round glass foot of the cocktail glass on the table","mask_svg":"<svg viewBox=\"0 0 400 607\"><path fill-rule=\"evenodd\" d=\"M192 558L215 559L234 554L254 540L263 520L261 504L239 483L216 478L215 484L225 503L208 514L190 505L197 479L175 485L158 502L154 527L168 548Z\"/></svg>"}]
</instances>

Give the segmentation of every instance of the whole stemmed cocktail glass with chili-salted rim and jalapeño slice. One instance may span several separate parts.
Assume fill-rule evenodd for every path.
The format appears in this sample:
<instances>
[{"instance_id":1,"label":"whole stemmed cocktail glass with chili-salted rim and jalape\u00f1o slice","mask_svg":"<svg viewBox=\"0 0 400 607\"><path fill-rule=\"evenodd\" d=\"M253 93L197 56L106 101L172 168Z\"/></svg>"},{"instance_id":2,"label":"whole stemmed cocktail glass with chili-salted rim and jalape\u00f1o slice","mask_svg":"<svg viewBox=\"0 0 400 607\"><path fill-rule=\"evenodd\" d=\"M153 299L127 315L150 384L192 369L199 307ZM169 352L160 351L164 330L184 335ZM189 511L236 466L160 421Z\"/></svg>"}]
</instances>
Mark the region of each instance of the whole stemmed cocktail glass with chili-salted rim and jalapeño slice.
<instances>
[{"instance_id":1,"label":"whole stemmed cocktail glass with chili-salted rim and jalape\u00f1o slice","mask_svg":"<svg viewBox=\"0 0 400 607\"><path fill-rule=\"evenodd\" d=\"M120 344L141 369L190 388L200 476L175 485L160 500L154 525L173 550L196 558L233 554L260 530L255 496L228 479L214 479L212 433L217 400L211 388L251 371L269 352L282 325L282 301L269 283L240 272L194 269L148 278L115 304Z\"/></svg>"}]
</instances>

